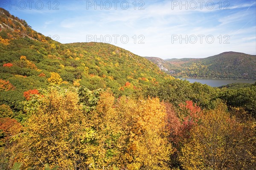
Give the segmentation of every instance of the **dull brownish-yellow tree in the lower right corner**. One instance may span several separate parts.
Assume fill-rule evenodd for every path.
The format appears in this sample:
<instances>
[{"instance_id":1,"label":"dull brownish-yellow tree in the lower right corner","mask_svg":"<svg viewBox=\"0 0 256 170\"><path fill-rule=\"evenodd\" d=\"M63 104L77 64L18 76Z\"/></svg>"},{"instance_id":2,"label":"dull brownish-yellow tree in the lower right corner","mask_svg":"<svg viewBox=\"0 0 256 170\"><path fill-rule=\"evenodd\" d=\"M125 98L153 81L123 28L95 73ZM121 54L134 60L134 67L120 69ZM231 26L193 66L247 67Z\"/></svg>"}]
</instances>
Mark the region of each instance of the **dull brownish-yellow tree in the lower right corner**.
<instances>
[{"instance_id":1,"label":"dull brownish-yellow tree in the lower right corner","mask_svg":"<svg viewBox=\"0 0 256 170\"><path fill-rule=\"evenodd\" d=\"M205 112L182 147L180 161L186 170L248 170L255 164L252 122L230 116L224 104Z\"/></svg>"}]
</instances>

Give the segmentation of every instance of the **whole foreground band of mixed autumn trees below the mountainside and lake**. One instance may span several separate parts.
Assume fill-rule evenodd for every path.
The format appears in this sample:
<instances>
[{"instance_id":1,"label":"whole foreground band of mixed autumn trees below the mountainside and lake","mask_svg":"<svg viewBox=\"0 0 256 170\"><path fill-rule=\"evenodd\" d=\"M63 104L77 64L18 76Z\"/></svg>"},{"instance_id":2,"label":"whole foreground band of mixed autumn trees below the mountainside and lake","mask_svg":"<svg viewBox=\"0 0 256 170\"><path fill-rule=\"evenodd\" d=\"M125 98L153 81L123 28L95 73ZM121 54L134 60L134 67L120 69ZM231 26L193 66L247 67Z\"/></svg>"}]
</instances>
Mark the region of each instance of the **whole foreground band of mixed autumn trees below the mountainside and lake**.
<instances>
[{"instance_id":1,"label":"whole foreground band of mixed autumn trees below the mountainside and lake","mask_svg":"<svg viewBox=\"0 0 256 170\"><path fill-rule=\"evenodd\" d=\"M110 89L54 84L23 94L26 120L21 123L1 105L1 169L241 170L256 165L255 85L222 91L174 79L115 97Z\"/></svg>"}]
</instances>

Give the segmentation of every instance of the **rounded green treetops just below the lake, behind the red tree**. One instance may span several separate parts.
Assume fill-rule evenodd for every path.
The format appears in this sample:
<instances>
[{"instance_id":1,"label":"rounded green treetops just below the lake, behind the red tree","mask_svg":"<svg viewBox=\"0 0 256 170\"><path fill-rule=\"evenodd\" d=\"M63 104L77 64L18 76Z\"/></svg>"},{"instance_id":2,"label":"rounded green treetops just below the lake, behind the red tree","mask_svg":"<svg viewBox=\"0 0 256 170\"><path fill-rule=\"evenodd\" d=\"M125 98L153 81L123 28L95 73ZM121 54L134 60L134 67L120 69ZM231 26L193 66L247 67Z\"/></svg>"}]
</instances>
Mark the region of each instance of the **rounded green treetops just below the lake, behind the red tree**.
<instances>
[{"instance_id":1,"label":"rounded green treetops just below the lake, behind the red tree","mask_svg":"<svg viewBox=\"0 0 256 170\"><path fill-rule=\"evenodd\" d=\"M165 82L148 87L145 95L159 97L175 107L181 102L191 100L201 108L214 108L216 90L201 83L189 83L187 80L167 79Z\"/></svg>"}]
</instances>

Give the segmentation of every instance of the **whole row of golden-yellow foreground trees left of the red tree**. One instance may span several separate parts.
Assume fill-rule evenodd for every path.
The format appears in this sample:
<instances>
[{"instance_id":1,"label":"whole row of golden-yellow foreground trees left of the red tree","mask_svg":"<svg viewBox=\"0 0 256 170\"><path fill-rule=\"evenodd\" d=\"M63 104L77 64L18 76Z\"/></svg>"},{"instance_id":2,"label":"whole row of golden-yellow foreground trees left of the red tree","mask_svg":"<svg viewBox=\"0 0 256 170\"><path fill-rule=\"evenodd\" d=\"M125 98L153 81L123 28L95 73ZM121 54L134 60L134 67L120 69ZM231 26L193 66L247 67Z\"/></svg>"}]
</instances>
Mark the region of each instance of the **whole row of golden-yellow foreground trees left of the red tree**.
<instances>
[{"instance_id":1,"label":"whole row of golden-yellow foreground trees left of the red tree","mask_svg":"<svg viewBox=\"0 0 256 170\"><path fill-rule=\"evenodd\" d=\"M40 102L28 101L34 108L27 111L27 135L20 139L28 153L17 158L23 167L40 169L45 162L61 169L168 169L172 145L159 99L116 101L111 92L102 92L94 98L96 108L85 111L80 97L53 89Z\"/></svg>"}]
</instances>

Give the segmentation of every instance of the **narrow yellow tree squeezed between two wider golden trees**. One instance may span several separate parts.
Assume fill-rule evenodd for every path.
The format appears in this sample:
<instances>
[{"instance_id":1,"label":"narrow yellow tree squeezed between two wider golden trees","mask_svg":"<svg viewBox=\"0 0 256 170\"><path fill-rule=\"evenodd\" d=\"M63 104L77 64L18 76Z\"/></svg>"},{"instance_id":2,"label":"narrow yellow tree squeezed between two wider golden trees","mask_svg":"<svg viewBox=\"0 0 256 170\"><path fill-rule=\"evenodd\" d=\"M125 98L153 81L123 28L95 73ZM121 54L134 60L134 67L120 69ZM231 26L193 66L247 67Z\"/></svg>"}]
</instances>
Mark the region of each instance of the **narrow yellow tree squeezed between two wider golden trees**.
<instances>
[{"instance_id":1,"label":"narrow yellow tree squeezed between two wider golden trees","mask_svg":"<svg viewBox=\"0 0 256 170\"><path fill-rule=\"evenodd\" d=\"M90 150L87 163L92 170L111 169L119 167L119 137L120 128L117 125L114 96L110 92L102 92L96 109L88 113L88 122L96 132L95 142Z\"/></svg>"}]
</instances>

